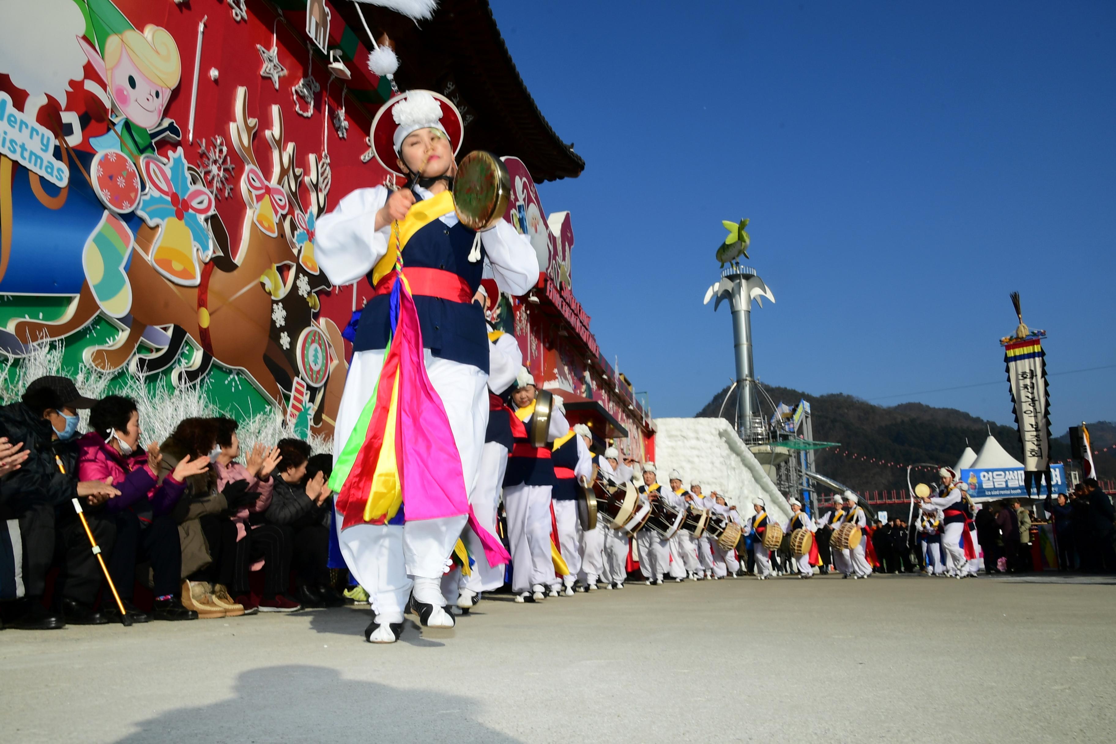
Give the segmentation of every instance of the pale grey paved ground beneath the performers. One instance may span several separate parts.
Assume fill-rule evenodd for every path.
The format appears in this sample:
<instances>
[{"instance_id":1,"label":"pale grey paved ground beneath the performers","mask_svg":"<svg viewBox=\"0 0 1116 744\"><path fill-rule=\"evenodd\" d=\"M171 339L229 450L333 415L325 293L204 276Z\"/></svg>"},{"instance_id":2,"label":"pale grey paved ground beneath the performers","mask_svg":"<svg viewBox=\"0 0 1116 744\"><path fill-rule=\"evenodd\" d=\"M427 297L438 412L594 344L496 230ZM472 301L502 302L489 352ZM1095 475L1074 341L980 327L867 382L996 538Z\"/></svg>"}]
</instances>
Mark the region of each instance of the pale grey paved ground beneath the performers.
<instances>
[{"instance_id":1,"label":"pale grey paved ground beneath the performers","mask_svg":"<svg viewBox=\"0 0 1116 744\"><path fill-rule=\"evenodd\" d=\"M0 632L3 742L1112 741L1116 588L735 579Z\"/></svg>"}]
</instances>

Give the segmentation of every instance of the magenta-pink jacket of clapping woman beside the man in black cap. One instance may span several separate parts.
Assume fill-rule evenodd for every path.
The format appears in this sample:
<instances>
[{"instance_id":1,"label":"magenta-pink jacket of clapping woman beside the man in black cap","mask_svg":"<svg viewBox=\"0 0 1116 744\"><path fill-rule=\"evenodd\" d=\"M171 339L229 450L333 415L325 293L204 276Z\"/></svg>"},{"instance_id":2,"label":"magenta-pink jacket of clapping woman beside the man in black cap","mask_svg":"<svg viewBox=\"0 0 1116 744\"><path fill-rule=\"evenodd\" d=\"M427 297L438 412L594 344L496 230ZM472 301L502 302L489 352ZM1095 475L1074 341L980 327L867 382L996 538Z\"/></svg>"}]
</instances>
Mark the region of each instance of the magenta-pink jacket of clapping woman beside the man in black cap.
<instances>
[{"instance_id":1,"label":"magenta-pink jacket of clapping woman beside the man in black cap","mask_svg":"<svg viewBox=\"0 0 1116 744\"><path fill-rule=\"evenodd\" d=\"M105 502L110 513L131 510L141 520L170 513L186 490L186 484L172 475L156 485L157 476L147 465L144 452L122 455L100 434L89 432L78 439L78 479L81 481L113 480L121 495Z\"/></svg>"}]
</instances>

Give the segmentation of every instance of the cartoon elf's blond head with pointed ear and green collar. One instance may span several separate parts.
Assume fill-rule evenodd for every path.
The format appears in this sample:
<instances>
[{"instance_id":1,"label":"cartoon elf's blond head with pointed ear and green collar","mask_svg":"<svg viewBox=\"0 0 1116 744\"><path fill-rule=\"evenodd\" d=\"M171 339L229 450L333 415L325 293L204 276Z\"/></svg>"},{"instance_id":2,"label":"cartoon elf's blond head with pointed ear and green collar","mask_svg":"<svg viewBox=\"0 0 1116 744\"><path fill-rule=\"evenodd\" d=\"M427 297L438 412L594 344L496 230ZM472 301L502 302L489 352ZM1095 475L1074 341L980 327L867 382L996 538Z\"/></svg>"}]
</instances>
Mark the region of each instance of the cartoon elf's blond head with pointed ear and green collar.
<instances>
[{"instance_id":1,"label":"cartoon elf's blond head with pointed ear and green collar","mask_svg":"<svg viewBox=\"0 0 1116 744\"><path fill-rule=\"evenodd\" d=\"M182 137L174 119L163 117L182 75L170 31L148 23L143 33L131 28L113 33L105 39L104 57L85 38L78 37L78 42L107 83L108 96L121 113L113 116L108 132L89 139L95 149L123 151L138 165L141 155L155 153L155 142Z\"/></svg>"}]
</instances>

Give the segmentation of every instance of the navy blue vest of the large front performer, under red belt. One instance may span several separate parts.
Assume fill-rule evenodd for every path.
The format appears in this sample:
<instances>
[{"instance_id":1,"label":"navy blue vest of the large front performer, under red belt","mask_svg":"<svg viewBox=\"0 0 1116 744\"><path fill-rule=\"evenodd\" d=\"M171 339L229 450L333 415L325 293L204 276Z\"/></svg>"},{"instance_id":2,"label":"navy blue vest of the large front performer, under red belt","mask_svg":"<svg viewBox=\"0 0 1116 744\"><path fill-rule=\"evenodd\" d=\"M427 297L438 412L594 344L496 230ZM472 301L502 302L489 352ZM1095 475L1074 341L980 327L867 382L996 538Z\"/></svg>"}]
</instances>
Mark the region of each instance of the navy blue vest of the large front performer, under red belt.
<instances>
[{"instance_id":1,"label":"navy blue vest of the large front performer, under red belt","mask_svg":"<svg viewBox=\"0 0 1116 744\"><path fill-rule=\"evenodd\" d=\"M469 262L475 232L461 223L446 226L432 220L411 236L403 247L403 267L423 267L451 271L475 293L481 283L483 260ZM483 259L483 247L481 254ZM372 273L368 274L372 283ZM484 311L475 302L453 302L437 297L416 294L415 309L422 327L422 345L435 357L489 370L488 328ZM353 351L387 347L392 335L391 294L379 294L364 306L356 328Z\"/></svg>"}]
</instances>

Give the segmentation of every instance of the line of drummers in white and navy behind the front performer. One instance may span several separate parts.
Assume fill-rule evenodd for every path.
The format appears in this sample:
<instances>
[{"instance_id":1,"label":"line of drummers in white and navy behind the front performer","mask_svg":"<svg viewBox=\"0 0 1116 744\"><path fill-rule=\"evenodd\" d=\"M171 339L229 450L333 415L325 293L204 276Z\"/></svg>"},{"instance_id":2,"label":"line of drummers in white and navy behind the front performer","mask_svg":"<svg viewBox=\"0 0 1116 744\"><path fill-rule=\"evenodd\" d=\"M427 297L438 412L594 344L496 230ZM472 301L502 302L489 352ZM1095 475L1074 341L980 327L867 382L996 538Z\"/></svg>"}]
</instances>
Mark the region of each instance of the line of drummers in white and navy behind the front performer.
<instances>
[{"instance_id":1,"label":"line of drummers in white and navy behind the front performer","mask_svg":"<svg viewBox=\"0 0 1116 744\"><path fill-rule=\"evenodd\" d=\"M517 602L623 589L636 566L652 586L742 577L745 567L760 580L806 579L819 564L819 528L830 535L837 570L856 578L872 572L860 537L866 514L853 494L848 509L817 524L796 499L788 500L786 521L754 497L743 514L715 492L704 494L698 481L683 487L677 471L663 485L653 462L622 462L614 446L593 454L600 444L585 424L569 425L562 399L538 389L526 368L507 392L490 395L471 508L491 534L502 533L511 560L490 562L465 530L442 580L443 596L458 597L452 612L469 612L482 593L509 583Z\"/></svg>"}]
</instances>

